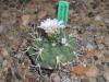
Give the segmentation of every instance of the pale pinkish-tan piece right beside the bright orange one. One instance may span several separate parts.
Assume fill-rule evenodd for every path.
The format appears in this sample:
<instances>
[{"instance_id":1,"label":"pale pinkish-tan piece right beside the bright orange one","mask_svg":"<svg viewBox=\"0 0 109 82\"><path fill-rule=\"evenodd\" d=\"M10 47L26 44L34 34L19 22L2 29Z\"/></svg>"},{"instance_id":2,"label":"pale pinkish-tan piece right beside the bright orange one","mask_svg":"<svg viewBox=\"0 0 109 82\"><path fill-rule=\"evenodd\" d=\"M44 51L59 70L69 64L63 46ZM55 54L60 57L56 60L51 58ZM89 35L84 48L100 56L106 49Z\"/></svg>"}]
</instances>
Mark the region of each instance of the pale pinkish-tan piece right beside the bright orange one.
<instances>
[{"instance_id":1,"label":"pale pinkish-tan piece right beside the bright orange one","mask_svg":"<svg viewBox=\"0 0 109 82\"><path fill-rule=\"evenodd\" d=\"M98 68L97 68L96 66L90 66L90 67L88 68L88 70L86 71L85 74L86 74L87 77L97 77L98 73L99 73Z\"/></svg>"}]
</instances>

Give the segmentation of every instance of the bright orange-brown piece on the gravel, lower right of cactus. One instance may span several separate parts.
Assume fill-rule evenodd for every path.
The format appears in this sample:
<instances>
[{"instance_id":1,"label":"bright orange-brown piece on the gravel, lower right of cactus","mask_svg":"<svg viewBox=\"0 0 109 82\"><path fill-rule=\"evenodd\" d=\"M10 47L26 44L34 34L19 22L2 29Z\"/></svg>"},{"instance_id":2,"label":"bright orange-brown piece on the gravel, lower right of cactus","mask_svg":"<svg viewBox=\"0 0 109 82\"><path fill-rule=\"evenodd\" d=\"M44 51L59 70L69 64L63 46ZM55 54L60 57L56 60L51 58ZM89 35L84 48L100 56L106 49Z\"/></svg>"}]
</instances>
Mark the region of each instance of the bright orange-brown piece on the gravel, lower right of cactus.
<instances>
[{"instance_id":1,"label":"bright orange-brown piece on the gravel, lower right of cactus","mask_svg":"<svg viewBox=\"0 0 109 82\"><path fill-rule=\"evenodd\" d=\"M74 68L73 72L76 75L84 75L85 72L87 71L87 68L85 68L83 65L78 65L77 67Z\"/></svg>"}]
</instances>

